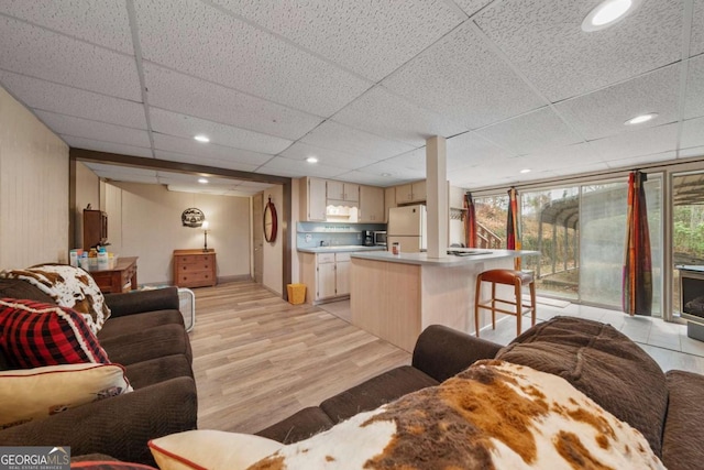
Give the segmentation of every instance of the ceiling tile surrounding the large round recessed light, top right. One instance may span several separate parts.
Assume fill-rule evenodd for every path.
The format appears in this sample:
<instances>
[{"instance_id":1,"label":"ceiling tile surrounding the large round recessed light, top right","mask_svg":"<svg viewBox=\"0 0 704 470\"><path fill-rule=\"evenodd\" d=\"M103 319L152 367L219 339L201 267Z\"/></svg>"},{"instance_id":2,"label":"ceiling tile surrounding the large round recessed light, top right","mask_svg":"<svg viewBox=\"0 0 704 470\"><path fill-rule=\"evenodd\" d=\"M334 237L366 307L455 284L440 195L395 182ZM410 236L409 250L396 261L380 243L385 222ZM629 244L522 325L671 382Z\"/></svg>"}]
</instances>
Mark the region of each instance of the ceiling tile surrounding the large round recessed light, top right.
<instances>
[{"instance_id":1,"label":"ceiling tile surrounding the large round recessed light, top right","mask_svg":"<svg viewBox=\"0 0 704 470\"><path fill-rule=\"evenodd\" d=\"M504 0L474 21L551 101L579 96L681 58L681 0L644 1L612 28L582 31L601 0Z\"/></svg>"}]
</instances>

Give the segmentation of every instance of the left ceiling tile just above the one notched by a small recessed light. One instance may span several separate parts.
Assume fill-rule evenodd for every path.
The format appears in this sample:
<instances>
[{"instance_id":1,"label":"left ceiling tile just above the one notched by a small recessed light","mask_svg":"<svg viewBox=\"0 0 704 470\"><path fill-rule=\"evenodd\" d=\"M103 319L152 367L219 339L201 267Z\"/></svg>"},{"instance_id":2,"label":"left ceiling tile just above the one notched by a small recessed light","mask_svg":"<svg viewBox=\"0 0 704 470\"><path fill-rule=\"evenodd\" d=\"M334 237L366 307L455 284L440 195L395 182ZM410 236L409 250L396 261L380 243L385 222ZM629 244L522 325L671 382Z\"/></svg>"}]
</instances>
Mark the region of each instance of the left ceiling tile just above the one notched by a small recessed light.
<instances>
[{"instance_id":1,"label":"left ceiling tile just above the one notched by a small recessed light","mask_svg":"<svg viewBox=\"0 0 704 470\"><path fill-rule=\"evenodd\" d=\"M144 65L152 107L284 139L299 139L321 118L154 64Z\"/></svg>"}]
</instances>

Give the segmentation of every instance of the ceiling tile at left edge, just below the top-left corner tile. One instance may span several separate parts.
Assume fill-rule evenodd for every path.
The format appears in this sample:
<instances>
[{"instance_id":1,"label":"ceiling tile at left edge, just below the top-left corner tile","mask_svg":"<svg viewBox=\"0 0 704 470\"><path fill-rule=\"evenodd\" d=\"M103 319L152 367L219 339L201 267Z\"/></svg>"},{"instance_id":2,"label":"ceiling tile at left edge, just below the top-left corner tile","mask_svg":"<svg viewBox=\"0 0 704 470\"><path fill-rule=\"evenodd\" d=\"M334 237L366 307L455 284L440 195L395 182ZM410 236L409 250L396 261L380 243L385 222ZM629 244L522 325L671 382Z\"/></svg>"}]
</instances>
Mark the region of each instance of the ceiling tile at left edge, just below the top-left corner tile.
<instances>
[{"instance_id":1,"label":"ceiling tile at left edge, just below the top-left corner tile","mask_svg":"<svg viewBox=\"0 0 704 470\"><path fill-rule=\"evenodd\" d=\"M141 101L134 57L0 17L3 69Z\"/></svg>"}]
</instances>

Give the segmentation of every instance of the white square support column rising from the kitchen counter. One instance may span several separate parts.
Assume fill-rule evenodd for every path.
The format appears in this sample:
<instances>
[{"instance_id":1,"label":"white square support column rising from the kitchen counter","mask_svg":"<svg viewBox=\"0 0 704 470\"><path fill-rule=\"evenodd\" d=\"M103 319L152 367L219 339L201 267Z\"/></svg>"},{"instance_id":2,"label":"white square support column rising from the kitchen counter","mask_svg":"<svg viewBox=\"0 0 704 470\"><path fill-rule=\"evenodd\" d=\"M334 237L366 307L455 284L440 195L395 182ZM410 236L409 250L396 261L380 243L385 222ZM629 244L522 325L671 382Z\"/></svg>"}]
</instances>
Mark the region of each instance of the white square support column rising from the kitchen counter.
<instances>
[{"instance_id":1,"label":"white square support column rising from the kitchen counter","mask_svg":"<svg viewBox=\"0 0 704 470\"><path fill-rule=\"evenodd\" d=\"M444 138L426 140L426 188L428 190L428 258L448 255L448 171Z\"/></svg>"}]
</instances>

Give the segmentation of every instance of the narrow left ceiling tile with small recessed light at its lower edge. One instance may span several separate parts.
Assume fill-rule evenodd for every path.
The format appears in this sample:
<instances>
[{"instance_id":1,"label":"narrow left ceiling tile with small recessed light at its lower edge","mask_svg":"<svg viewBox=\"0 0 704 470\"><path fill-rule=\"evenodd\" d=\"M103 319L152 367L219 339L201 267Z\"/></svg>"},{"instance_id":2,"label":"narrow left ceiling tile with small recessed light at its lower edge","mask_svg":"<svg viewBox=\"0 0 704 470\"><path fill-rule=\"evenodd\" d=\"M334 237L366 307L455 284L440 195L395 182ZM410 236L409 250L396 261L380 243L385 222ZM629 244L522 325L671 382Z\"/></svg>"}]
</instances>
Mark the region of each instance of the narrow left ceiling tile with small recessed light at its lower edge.
<instances>
[{"instance_id":1,"label":"narrow left ceiling tile with small recessed light at its lower edge","mask_svg":"<svg viewBox=\"0 0 704 470\"><path fill-rule=\"evenodd\" d=\"M163 109L150 109L150 117L154 132L185 139L193 139L198 134L205 134L210 139L210 143L212 144L252 152L275 154L293 143L290 140L206 121L205 119L165 111Z\"/></svg>"}]
</instances>

